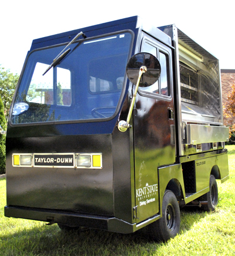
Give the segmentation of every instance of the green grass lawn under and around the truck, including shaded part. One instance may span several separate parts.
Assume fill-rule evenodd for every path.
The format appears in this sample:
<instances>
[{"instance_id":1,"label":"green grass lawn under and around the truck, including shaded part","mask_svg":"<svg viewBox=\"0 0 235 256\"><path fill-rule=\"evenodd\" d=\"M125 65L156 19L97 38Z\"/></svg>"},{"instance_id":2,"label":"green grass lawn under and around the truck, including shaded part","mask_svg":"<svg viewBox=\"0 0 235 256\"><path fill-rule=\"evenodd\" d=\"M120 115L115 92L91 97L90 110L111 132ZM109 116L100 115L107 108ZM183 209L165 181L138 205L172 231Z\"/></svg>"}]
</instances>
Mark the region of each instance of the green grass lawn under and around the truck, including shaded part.
<instances>
[{"instance_id":1,"label":"green grass lawn under and around the truck, including shaded part","mask_svg":"<svg viewBox=\"0 0 235 256\"><path fill-rule=\"evenodd\" d=\"M215 212L184 210L180 234L166 243L145 230L62 232L57 225L4 217L5 179L0 180L0 256L8 255L235 255L235 146L228 145L230 179L218 182Z\"/></svg>"}]
</instances>

